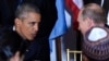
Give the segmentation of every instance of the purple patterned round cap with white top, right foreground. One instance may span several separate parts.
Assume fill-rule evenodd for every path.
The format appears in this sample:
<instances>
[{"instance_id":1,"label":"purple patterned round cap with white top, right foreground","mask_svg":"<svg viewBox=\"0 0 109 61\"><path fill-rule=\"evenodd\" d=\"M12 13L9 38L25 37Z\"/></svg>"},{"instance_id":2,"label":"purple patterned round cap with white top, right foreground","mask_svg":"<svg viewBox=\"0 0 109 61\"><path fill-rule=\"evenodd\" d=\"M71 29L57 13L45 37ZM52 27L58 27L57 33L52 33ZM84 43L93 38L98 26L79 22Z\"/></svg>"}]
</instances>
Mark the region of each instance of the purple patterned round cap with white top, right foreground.
<instances>
[{"instance_id":1,"label":"purple patterned round cap with white top, right foreground","mask_svg":"<svg viewBox=\"0 0 109 61\"><path fill-rule=\"evenodd\" d=\"M90 61L109 61L109 29L92 27L84 35L82 51Z\"/></svg>"}]
</instances>

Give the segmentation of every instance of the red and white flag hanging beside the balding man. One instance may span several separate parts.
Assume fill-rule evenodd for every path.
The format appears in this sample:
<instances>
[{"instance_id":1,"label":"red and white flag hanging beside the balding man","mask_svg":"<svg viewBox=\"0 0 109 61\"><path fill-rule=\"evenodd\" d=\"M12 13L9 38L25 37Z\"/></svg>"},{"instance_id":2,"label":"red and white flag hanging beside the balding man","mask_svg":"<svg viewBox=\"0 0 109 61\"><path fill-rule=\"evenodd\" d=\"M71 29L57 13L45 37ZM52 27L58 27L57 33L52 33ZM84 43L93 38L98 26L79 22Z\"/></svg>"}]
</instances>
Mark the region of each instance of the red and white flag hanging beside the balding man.
<instances>
[{"instance_id":1,"label":"red and white flag hanging beside the balding man","mask_svg":"<svg viewBox=\"0 0 109 61\"><path fill-rule=\"evenodd\" d=\"M68 10L72 13L73 28L77 29L78 27L77 14L80 9L83 7L83 0L65 0L65 5Z\"/></svg>"}]
</instances>

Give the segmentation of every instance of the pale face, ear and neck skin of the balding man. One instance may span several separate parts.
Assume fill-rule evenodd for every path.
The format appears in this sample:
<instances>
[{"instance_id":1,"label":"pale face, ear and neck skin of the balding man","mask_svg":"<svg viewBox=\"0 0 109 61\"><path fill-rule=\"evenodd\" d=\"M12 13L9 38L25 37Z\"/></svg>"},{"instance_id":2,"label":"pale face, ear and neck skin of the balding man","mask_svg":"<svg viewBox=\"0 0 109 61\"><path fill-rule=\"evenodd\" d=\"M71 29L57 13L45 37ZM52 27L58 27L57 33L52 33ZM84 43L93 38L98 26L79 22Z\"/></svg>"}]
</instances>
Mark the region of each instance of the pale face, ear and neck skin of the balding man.
<instances>
[{"instance_id":1,"label":"pale face, ear and neck skin of the balding man","mask_svg":"<svg viewBox=\"0 0 109 61\"><path fill-rule=\"evenodd\" d=\"M78 22L78 29L82 32L83 35L94 26L105 26L104 23L98 23L98 24L95 23L94 20L90 19L89 16L83 19L82 11L83 9L78 12L77 22Z\"/></svg>"}]
</instances>

